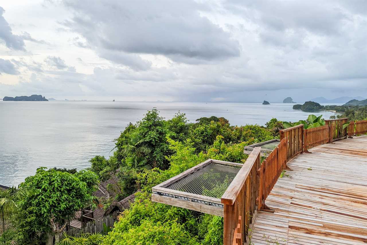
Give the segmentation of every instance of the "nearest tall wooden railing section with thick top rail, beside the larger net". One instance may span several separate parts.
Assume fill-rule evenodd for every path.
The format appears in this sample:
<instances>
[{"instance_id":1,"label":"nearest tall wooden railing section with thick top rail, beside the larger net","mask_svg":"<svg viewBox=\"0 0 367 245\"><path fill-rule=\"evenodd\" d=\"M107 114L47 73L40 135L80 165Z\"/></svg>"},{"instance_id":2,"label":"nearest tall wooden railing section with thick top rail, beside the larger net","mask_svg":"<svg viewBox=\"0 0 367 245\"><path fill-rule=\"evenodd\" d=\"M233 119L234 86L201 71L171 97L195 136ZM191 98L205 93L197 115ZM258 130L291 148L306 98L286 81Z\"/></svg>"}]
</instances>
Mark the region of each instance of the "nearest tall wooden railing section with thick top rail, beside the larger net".
<instances>
[{"instance_id":1,"label":"nearest tall wooden railing section with thick top rail, beside the larger net","mask_svg":"<svg viewBox=\"0 0 367 245\"><path fill-rule=\"evenodd\" d=\"M259 193L260 147L255 147L235 179L224 192L221 202L224 204L223 244L233 245L235 230L240 220L240 232L243 242L247 241L248 229L256 216L256 199Z\"/></svg>"}]
</instances>

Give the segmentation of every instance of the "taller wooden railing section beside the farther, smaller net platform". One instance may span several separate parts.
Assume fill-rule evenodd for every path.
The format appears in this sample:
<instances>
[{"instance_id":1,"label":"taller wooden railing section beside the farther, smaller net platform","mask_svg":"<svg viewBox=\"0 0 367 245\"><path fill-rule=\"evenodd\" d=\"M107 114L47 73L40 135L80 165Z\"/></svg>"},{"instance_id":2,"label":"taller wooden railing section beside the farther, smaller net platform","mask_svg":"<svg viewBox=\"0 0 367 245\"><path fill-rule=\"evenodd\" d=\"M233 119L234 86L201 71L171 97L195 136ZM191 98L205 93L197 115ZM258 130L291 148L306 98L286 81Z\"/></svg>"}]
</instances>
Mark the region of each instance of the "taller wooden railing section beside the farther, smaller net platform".
<instances>
[{"instance_id":1,"label":"taller wooden railing section beside the farther, smaller net platform","mask_svg":"<svg viewBox=\"0 0 367 245\"><path fill-rule=\"evenodd\" d=\"M288 139L287 160L303 151L303 124L280 130L280 140Z\"/></svg>"}]
</instances>

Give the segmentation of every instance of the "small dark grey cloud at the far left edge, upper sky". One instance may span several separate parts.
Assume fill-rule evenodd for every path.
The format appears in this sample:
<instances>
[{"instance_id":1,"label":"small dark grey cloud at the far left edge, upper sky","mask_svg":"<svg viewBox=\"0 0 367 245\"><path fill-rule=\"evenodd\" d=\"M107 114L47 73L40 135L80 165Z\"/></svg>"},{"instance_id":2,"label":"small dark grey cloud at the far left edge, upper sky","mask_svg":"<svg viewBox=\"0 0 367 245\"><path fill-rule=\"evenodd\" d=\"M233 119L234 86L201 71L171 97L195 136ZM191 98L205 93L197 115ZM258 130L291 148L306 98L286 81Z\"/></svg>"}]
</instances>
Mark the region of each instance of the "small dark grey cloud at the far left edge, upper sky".
<instances>
[{"instance_id":1,"label":"small dark grey cloud at the far left edge, upper sky","mask_svg":"<svg viewBox=\"0 0 367 245\"><path fill-rule=\"evenodd\" d=\"M3 17L4 12L5 10L0 7L0 39L2 39L5 45L12 50L25 51L23 38L12 33L10 25Z\"/></svg>"}]
</instances>

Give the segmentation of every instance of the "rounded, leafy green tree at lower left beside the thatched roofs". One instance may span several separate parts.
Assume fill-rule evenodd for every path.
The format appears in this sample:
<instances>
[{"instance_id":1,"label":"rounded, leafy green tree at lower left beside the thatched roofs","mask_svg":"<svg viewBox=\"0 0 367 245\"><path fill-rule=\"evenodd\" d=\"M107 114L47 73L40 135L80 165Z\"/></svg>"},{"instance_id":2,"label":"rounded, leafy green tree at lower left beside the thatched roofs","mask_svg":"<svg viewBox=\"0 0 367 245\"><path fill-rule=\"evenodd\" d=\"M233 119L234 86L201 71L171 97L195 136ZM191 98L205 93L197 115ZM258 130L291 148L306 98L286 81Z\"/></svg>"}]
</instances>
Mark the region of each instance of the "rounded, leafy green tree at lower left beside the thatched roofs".
<instances>
[{"instance_id":1,"label":"rounded, leafy green tree at lower left beside the thatched roofs","mask_svg":"<svg viewBox=\"0 0 367 245\"><path fill-rule=\"evenodd\" d=\"M87 180L87 183L82 181ZM92 203L92 192L98 176L88 170L77 174L46 170L40 167L34 176L27 177L20 188L32 194L19 202L17 228L19 240L46 241L52 245L54 237L65 228L75 212Z\"/></svg>"}]
</instances>

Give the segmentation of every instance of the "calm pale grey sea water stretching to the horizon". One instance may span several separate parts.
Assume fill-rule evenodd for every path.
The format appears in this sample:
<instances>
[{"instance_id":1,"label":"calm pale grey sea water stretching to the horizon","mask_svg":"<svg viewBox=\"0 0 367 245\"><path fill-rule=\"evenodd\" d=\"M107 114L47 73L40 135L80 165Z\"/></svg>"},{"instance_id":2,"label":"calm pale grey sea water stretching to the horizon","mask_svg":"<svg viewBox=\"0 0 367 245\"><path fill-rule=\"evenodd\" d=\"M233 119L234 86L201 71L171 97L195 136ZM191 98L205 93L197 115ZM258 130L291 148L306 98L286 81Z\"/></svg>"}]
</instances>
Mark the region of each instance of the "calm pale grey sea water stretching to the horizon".
<instances>
[{"instance_id":1,"label":"calm pale grey sea water stretching to the horizon","mask_svg":"<svg viewBox=\"0 0 367 245\"><path fill-rule=\"evenodd\" d=\"M129 122L157 107L171 118L184 112L191 122L203 116L225 117L231 125L265 125L306 119L293 104L221 102L0 101L0 184L18 185L37 167L83 169L95 155L109 156L113 139ZM323 111L324 118L334 115Z\"/></svg>"}]
</instances>

